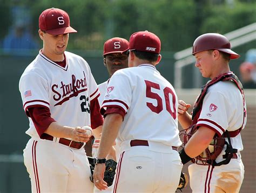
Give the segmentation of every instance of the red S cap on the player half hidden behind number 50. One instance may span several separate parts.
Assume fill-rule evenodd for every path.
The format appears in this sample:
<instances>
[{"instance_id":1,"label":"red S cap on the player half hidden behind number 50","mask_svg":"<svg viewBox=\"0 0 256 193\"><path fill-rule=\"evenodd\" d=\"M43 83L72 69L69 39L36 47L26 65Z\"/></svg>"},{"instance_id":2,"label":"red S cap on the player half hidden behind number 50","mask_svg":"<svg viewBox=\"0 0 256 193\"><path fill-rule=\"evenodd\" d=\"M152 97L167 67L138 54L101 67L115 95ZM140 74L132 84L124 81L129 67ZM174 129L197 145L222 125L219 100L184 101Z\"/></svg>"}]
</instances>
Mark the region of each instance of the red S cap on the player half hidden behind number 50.
<instances>
[{"instance_id":1,"label":"red S cap on the player half hidden behind number 50","mask_svg":"<svg viewBox=\"0 0 256 193\"><path fill-rule=\"evenodd\" d=\"M124 38L111 38L104 44L103 55L112 53L123 53L129 47L129 41Z\"/></svg>"}]
</instances>

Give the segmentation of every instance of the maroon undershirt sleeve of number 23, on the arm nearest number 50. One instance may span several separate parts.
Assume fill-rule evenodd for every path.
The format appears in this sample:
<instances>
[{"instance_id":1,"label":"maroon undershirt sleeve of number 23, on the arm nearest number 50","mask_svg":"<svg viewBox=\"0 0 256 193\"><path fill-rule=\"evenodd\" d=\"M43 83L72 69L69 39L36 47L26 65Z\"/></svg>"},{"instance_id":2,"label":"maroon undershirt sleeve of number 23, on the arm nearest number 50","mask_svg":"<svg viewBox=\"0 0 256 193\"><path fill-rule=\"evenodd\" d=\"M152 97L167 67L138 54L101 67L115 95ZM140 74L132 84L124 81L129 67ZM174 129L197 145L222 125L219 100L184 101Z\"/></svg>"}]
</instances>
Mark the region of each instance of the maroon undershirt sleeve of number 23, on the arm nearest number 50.
<instances>
[{"instance_id":1,"label":"maroon undershirt sleeve of number 23, on the arm nearest number 50","mask_svg":"<svg viewBox=\"0 0 256 193\"><path fill-rule=\"evenodd\" d=\"M103 117L102 117L102 115L100 115L99 109L100 109L100 106L99 106L98 98L95 98L90 102L92 129L95 129L98 126L103 125Z\"/></svg>"}]
</instances>

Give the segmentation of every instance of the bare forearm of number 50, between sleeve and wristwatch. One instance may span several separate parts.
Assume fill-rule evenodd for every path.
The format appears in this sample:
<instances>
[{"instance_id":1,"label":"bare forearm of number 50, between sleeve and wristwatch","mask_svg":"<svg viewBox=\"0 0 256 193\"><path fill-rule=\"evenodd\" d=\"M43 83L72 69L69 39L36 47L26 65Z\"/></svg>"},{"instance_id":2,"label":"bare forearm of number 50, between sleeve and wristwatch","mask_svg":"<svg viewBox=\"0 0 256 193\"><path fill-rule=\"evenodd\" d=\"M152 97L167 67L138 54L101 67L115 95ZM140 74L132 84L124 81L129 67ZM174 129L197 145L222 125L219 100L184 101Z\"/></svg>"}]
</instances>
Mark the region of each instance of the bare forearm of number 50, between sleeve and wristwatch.
<instances>
[{"instance_id":1,"label":"bare forearm of number 50, between sleeve and wristwatch","mask_svg":"<svg viewBox=\"0 0 256 193\"><path fill-rule=\"evenodd\" d=\"M102 137L100 138L97 158L106 158L107 154L109 154L122 122L123 117L117 113L106 116L103 123Z\"/></svg>"}]
</instances>

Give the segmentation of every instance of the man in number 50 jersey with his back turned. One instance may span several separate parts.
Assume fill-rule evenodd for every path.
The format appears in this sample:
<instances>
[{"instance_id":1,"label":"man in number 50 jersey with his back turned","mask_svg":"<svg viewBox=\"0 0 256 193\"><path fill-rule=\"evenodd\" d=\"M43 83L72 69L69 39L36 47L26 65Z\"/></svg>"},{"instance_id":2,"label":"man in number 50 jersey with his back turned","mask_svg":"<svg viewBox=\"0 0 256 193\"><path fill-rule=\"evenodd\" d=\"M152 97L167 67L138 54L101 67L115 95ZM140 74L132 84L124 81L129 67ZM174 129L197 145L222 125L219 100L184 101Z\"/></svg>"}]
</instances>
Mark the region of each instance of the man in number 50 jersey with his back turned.
<instances>
[{"instance_id":1,"label":"man in number 50 jersey with his back turned","mask_svg":"<svg viewBox=\"0 0 256 193\"><path fill-rule=\"evenodd\" d=\"M130 54L129 54L130 53ZM160 39L141 31L130 37L129 67L110 78L103 105L103 133L94 183L106 189L104 160L117 137L120 159L113 192L175 192L181 173L177 147L178 99L170 82L156 69Z\"/></svg>"}]
</instances>

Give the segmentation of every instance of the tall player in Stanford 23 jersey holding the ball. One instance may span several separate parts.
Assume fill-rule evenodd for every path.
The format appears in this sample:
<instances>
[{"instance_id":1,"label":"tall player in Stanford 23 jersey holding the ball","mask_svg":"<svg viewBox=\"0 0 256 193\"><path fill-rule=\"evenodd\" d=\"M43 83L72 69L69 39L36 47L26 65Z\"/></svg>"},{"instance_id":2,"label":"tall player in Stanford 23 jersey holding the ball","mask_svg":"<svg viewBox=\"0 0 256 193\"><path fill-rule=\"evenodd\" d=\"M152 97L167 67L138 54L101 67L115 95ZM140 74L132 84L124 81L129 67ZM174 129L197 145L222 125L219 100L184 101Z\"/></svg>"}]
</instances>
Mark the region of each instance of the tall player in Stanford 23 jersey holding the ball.
<instances>
[{"instance_id":1,"label":"tall player in Stanford 23 jersey holding the ball","mask_svg":"<svg viewBox=\"0 0 256 193\"><path fill-rule=\"evenodd\" d=\"M83 148L89 136L81 127L103 124L97 84L87 62L65 51L69 33L77 32L68 13L46 9L39 16L38 32L43 49L19 81L29 117L26 134L31 139L24 163L32 192L93 192Z\"/></svg>"}]
</instances>

